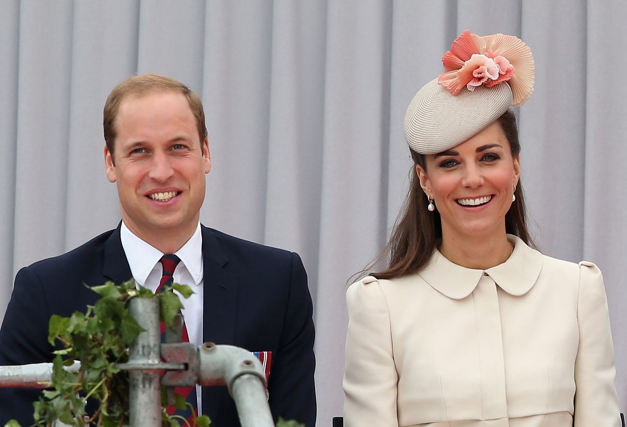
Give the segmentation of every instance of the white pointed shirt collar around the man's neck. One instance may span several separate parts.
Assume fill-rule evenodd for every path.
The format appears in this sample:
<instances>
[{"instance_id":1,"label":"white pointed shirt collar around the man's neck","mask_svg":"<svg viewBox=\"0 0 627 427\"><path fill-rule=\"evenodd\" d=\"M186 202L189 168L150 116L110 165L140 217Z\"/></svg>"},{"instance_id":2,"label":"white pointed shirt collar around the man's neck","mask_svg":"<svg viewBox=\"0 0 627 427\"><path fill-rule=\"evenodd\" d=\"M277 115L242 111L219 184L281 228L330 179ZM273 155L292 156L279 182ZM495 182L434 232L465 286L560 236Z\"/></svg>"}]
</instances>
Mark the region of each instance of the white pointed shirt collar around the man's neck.
<instances>
[{"instance_id":1,"label":"white pointed shirt collar around the man's neck","mask_svg":"<svg viewBox=\"0 0 627 427\"><path fill-rule=\"evenodd\" d=\"M120 227L120 240L129 261L130 273L138 284L145 286L148 275L164 253L133 234L124 221ZM203 281L203 236L200 222L192 237L174 254L181 259L194 284L199 285Z\"/></svg>"}]
</instances>

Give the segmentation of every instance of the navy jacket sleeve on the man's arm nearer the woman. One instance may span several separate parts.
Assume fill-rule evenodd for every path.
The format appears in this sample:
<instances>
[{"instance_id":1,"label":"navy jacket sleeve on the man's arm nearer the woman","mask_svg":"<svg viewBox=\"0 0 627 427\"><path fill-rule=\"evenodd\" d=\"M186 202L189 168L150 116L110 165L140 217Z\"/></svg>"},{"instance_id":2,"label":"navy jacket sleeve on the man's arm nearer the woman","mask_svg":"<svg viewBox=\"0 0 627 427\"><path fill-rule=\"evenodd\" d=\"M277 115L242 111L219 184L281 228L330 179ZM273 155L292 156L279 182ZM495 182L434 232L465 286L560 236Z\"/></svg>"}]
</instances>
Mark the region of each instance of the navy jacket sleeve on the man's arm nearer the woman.
<instances>
[{"instance_id":1,"label":"navy jacket sleeve on the man's arm nearer the woman","mask_svg":"<svg viewBox=\"0 0 627 427\"><path fill-rule=\"evenodd\" d=\"M314 308L298 254L292 254L290 276L285 326L277 354L272 356L276 359L268 384L268 403L275 421L281 416L315 427Z\"/></svg>"}]
</instances>

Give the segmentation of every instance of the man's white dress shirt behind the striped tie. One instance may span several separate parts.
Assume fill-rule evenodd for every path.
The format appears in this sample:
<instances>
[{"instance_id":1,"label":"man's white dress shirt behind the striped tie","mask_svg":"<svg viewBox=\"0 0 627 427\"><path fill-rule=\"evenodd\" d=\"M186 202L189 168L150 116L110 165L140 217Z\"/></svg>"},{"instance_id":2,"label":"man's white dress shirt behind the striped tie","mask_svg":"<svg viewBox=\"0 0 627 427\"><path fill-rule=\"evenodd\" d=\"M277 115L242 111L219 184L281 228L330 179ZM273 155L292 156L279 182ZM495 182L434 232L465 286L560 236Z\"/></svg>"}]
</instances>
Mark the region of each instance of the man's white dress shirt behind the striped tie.
<instances>
[{"instance_id":1,"label":"man's white dress shirt behind the striped tie","mask_svg":"<svg viewBox=\"0 0 627 427\"><path fill-rule=\"evenodd\" d=\"M163 266L159 260L164 253L150 246L133 234L122 221L120 229L122 248L129 262L130 273L140 286L156 291L163 274ZM174 255L181 259L176 266L172 278L174 283L187 284L194 293L187 299L181 298L181 313L185 319L189 342L198 346L203 343L203 236L200 222L192 237ZM198 414L201 411L201 387L196 385Z\"/></svg>"}]
</instances>

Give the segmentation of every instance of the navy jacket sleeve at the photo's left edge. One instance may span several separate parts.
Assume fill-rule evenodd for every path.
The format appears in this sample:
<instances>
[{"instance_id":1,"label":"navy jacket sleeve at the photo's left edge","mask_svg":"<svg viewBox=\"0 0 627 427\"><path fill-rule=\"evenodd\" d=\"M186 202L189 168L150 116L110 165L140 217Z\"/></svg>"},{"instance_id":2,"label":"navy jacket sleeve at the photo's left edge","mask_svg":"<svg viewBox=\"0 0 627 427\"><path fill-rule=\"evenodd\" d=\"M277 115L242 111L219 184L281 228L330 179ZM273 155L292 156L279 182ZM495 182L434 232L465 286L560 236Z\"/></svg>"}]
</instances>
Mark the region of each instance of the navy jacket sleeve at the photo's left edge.
<instances>
[{"instance_id":1,"label":"navy jacket sleeve at the photo's left edge","mask_svg":"<svg viewBox=\"0 0 627 427\"><path fill-rule=\"evenodd\" d=\"M0 365L50 362L49 317L38 276L29 267L21 269L0 329ZM33 424L33 402L40 394L37 389L0 388L0 425L12 418L22 426Z\"/></svg>"}]
</instances>

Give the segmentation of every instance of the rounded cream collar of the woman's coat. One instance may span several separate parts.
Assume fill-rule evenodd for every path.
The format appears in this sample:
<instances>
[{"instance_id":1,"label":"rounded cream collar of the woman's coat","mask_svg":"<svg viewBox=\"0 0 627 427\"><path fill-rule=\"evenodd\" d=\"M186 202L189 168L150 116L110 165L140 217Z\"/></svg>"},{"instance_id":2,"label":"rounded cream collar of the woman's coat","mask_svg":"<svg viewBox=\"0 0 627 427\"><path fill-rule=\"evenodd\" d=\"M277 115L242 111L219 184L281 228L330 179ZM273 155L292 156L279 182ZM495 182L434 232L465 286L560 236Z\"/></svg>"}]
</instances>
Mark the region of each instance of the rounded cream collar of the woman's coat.
<instances>
[{"instance_id":1,"label":"rounded cream collar of the woman's coat","mask_svg":"<svg viewBox=\"0 0 627 427\"><path fill-rule=\"evenodd\" d=\"M514 251L498 266L485 270L465 268L449 261L436 249L418 274L433 289L453 300L470 295L484 273L508 294L525 295L540 275L542 254L515 235L508 234L507 240L514 245Z\"/></svg>"}]
</instances>

